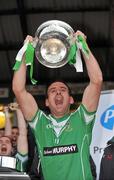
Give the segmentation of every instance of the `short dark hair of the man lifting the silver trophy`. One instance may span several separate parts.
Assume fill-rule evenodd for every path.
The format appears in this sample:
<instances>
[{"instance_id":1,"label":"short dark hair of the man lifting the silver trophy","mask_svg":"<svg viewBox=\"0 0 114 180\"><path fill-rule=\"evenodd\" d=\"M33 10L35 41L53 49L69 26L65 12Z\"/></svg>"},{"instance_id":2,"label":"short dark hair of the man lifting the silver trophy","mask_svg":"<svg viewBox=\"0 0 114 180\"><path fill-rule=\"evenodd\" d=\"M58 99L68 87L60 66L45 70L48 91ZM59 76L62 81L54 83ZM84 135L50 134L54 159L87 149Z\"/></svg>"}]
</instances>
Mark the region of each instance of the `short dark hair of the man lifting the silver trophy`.
<instances>
[{"instance_id":1,"label":"short dark hair of the man lifting the silver trophy","mask_svg":"<svg viewBox=\"0 0 114 180\"><path fill-rule=\"evenodd\" d=\"M49 86L50 86L51 84L53 84L53 83L56 83L56 82L61 82L61 83L65 84L66 87L68 88L69 95L71 95L71 89L70 89L70 87L68 86L68 84L67 84L64 80L62 80L62 79L56 79L56 80L49 81L49 82L47 83L47 85L46 85L46 94L45 94L46 98L48 97L48 93L47 93L47 92L48 92Z\"/></svg>"}]
</instances>

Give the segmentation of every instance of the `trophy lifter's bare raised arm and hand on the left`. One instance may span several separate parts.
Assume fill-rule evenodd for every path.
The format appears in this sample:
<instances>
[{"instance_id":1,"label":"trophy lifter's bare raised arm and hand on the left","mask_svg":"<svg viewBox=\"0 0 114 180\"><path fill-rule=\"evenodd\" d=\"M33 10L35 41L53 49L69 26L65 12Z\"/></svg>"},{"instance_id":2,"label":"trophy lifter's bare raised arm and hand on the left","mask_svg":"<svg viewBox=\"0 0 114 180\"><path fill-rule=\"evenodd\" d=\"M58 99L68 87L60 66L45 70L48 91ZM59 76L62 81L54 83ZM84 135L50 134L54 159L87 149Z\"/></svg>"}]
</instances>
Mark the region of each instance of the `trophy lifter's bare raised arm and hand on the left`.
<instances>
[{"instance_id":1,"label":"trophy lifter's bare raised arm and hand on the left","mask_svg":"<svg viewBox=\"0 0 114 180\"><path fill-rule=\"evenodd\" d=\"M25 41L32 42L33 38L27 36ZM23 112L26 120L31 120L35 115L38 106L34 97L26 90L26 65L25 58L23 57L21 67L14 72L12 88L16 96L17 102Z\"/></svg>"}]
</instances>

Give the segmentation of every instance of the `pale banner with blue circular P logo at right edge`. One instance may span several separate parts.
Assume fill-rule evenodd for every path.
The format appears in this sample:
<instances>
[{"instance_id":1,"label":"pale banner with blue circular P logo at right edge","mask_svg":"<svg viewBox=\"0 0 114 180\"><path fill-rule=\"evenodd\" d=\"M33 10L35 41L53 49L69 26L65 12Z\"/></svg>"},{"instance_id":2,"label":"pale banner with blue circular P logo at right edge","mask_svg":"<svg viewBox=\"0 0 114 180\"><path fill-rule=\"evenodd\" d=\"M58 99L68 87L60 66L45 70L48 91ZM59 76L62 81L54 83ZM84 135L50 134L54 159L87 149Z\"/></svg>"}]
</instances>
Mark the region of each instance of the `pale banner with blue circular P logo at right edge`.
<instances>
[{"instance_id":1,"label":"pale banner with blue circular P logo at right edge","mask_svg":"<svg viewBox=\"0 0 114 180\"><path fill-rule=\"evenodd\" d=\"M91 155L96 164L97 180L100 162L107 142L114 136L114 90L102 91L93 128Z\"/></svg>"}]
</instances>

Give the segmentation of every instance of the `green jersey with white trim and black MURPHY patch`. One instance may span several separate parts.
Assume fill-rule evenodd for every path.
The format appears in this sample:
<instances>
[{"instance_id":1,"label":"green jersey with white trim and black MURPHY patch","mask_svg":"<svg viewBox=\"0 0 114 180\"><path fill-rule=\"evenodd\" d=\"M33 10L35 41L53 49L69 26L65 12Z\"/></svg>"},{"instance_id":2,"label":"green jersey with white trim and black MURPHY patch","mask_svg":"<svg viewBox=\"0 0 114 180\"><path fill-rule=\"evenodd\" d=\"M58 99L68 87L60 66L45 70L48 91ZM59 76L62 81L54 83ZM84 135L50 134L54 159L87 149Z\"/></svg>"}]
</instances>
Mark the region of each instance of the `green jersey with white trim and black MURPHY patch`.
<instances>
[{"instance_id":1,"label":"green jersey with white trim and black MURPHY patch","mask_svg":"<svg viewBox=\"0 0 114 180\"><path fill-rule=\"evenodd\" d=\"M95 112L83 105L56 119L38 110L29 122L45 180L92 180L90 143Z\"/></svg>"}]
</instances>

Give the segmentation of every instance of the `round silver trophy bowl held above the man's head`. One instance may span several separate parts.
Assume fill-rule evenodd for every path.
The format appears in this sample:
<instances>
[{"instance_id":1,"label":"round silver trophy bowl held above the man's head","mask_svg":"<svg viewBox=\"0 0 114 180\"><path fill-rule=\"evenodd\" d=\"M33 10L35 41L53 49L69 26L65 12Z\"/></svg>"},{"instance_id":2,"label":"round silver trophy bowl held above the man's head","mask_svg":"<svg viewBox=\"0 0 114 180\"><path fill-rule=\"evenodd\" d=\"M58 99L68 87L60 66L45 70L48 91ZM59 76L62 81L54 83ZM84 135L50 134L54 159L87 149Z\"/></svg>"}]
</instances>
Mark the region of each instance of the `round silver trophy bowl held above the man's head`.
<instances>
[{"instance_id":1,"label":"round silver trophy bowl held above the man's head","mask_svg":"<svg viewBox=\"0 0 114 180\"><path fill-rule=\"evenodd\" d=\"M38 61L50 68L64 66L68 62L69 39L73 33L70 25L63 21L50 20L41 24L35 34L35 55Z\"/></svg>"}]
</instances>

